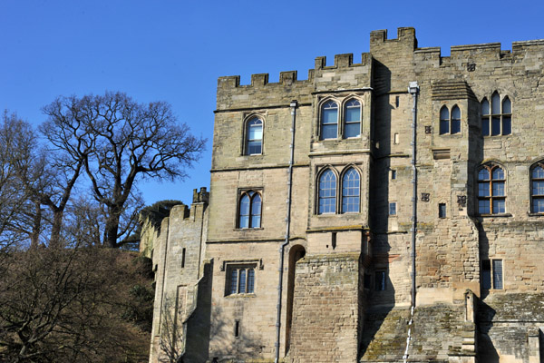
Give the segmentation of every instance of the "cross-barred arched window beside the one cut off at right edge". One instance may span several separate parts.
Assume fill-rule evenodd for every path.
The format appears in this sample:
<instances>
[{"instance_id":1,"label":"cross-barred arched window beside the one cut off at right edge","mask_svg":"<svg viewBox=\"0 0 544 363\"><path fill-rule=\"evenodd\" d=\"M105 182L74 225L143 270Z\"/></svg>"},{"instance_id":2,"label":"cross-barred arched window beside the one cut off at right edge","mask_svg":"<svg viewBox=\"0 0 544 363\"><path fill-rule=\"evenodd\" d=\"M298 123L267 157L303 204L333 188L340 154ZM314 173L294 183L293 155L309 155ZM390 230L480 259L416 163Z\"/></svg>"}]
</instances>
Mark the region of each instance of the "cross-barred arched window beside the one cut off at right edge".
<instances>
[{"instance_id":1,"label":"cross-barred arched window beside the one cut off at right edge","mask_svg":"<svg viewBox=\"0 0 544 363\"><path fill-rule=\"evenodd\" d=\"M495 164L482 165L478 170L478 213L506 212L506 176Z\"/></svg>"}]
</instances>

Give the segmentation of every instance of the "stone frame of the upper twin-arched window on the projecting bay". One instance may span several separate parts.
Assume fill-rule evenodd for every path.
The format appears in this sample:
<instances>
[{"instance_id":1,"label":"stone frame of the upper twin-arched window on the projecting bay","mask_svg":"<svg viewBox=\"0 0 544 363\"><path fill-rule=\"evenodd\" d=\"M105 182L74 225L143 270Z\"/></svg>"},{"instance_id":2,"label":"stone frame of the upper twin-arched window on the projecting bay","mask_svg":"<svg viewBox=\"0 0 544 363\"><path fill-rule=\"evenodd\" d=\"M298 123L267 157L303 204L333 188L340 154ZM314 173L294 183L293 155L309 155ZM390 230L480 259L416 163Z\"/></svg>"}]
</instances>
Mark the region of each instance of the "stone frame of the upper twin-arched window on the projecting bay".
<instances>
[{"instance_id":1,"label":"stone frame of the upper twin-arched window on the projecting bay","mask_svg":"<svg viewBox=\"0 0 544 363\"><path fill-rule=\"evenodd\" d=\"M346 121L346 110L348 103L356 101L359 103L359 134L357 136L346 136L345 135L345 123ZM323 110L326 103L333 102L336 104L336 136L330 138L323 138ZM317 139L321 142L330 141L330 140L351 140L359 139L363 133L363 111L364 111L364 101L360 95L357 94L348 94L345 97L339 98L335 96L327 96L319 101L317 104L318 117L317 117Z\"/></svg>"}]
</instances>

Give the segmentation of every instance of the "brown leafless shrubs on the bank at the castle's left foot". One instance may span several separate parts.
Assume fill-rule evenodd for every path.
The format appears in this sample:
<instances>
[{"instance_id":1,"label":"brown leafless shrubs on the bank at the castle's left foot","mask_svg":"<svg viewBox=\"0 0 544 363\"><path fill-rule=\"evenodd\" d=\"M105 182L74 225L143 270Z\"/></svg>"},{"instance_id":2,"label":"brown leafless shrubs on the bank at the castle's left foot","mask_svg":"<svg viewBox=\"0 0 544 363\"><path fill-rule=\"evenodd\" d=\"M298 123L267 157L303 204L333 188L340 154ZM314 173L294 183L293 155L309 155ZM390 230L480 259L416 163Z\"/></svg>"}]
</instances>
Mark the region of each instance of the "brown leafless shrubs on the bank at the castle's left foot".
<instances>
[{"instance_id":1,"label":"brown leafless shrubs on the bank at the castle's left foot","mask_svg":"<svg viewBox=\"0 0 544 363\"><path fill-rule=\"evenodd\" d=\"M3 253L0 361L147 361L150 266L97 247Z\"/></svg>"}]
</instances>

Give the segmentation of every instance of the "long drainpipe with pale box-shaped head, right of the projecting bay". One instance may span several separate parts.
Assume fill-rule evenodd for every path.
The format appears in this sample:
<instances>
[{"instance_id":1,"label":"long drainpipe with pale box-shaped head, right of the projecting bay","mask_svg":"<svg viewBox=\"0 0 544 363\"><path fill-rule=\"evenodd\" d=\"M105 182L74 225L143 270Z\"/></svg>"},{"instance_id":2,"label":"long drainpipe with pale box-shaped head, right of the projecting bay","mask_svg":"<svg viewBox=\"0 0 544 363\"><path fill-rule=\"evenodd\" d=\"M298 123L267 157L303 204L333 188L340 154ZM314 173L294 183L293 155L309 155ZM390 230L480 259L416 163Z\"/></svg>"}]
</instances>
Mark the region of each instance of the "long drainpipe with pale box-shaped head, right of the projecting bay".
<instances>
[{"instance_id":1,"label":"long drainpipe with pale box-shaped head, right of the projecting bay","mask_svg":"<svg viewBox=\"0 0 544 363\"><path fill-rule=\"evenodd\" d=\"M413 196L412 196L412 247L410 256L412 257L412 306L410 308L410 321L408 322L408 338L406 338L406 349L404 350L403 362L406 363L408 359L408 349L410 348L410 341L412 340L412 322L413 322L413 309L415 309L415 237L417 231L417 168L415 166L416 159L416 125L417 125L417 95L419 93L419 84L417 82L411 82L408 86L408 93L412 94L413 107L412 107L412 171L413 171Z\"/></svg>"}]
</instances>

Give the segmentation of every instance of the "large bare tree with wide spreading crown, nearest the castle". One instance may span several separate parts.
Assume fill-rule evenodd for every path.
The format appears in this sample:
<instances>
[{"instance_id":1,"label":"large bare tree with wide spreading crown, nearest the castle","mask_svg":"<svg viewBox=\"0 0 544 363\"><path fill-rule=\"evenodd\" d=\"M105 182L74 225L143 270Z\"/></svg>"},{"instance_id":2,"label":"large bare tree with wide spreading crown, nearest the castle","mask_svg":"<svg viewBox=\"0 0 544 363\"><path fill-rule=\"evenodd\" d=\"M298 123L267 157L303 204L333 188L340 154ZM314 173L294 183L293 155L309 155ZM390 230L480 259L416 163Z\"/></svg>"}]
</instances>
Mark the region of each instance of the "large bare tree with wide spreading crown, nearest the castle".
<instances>
[{"instance_id":1,"label":"large bare tree with wide spreading crown, nearest the castle","mask_svg":"<svg viewBox=\"0 0 544 363\"><path fill-rule=\"evenodd\" d=\"M124 93L60 97L44 113L44 134L74 165L83 161L92 194L104 206L102 243L109 247L122 245L136 228L129 204L138 200L137 182L186 177L206 142L177 123L168 103L136 103Z\"/></svg>"}]
</instances>

